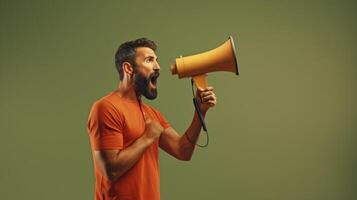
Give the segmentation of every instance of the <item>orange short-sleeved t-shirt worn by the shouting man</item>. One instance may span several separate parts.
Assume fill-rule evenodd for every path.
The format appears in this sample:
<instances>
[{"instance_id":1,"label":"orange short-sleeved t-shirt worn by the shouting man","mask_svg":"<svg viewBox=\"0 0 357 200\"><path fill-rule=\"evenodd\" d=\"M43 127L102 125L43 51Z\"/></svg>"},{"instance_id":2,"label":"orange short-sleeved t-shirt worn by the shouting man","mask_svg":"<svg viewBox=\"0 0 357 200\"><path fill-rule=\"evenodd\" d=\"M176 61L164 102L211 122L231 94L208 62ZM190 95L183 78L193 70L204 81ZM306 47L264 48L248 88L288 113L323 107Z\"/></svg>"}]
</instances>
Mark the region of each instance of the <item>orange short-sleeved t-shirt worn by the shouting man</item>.
<instances>
[{"instance_id":1,"label":"orange short-sleeved t-shirt worn by the shouting man","mask_svg":"<svg viewBox=\"0 0 357 200\"><path fill-rule=\"evenodd\" d=\"M88 134L94 150L125 149L142 136L144 115L170 127L156 109L138 101L119 97L114 92L96 101L89 114ZM158 141L146 149L138 162L118 180L109 181L94 157L96 200L159 200L160 172Z\"/></svg>"}]
</instances>

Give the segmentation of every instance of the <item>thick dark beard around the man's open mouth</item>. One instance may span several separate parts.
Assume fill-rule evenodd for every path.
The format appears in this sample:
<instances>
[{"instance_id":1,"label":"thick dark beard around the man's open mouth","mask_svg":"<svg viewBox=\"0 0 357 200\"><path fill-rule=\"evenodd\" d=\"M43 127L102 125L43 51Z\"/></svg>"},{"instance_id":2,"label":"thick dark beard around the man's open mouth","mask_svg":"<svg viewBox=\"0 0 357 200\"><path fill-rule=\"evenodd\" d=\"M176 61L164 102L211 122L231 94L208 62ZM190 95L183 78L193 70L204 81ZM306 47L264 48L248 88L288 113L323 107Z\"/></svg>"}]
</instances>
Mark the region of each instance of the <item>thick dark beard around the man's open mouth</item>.
<instances>
[{"instance_id":1,"label":"thick dark beard around the man's open mouth","mask_svg":"<svg viewBox=\"0 0 357 200\"><path fill-rule=\"evenodd\" d=\"M149 100L153 100L156 99L157 97L157 89L151 89L149 87L150 82L152 80L153 77L155 76L159 76L159 72L153 72L152 74L150 74L149 77L145 77L144 75L142 75L140 72L136 72L135 76L134 76L134 83L135 83L135 87L136 87L136 91L139 94L144 95L145 98L149 99ZM156 82L156 79L155 79ZM156 85L156 83L155 83Z\"/></svg>"}]
</instances>

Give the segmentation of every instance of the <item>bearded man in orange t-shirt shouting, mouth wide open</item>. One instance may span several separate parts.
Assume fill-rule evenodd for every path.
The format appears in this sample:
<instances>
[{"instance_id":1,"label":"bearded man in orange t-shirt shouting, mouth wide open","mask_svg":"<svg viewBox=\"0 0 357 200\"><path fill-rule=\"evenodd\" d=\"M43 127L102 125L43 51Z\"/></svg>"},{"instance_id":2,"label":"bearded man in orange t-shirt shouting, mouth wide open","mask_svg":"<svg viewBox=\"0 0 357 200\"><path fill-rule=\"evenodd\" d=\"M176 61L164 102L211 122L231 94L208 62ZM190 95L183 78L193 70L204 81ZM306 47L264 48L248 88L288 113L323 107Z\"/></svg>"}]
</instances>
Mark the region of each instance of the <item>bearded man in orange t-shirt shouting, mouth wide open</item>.
<instances>
[{"instance_id":1,"label":"bearded man in orange t-shirt shouting, mouth wide open","mask_svg":"<svg viewBox=\"0 0 357 200\"><path fill-rule=\"evenodd\" d=\"M115 54L118 88L93 104L88 119L96 188L95 199L159 200L158 147L173 157L191 159L201 124L194 114L183 135L141 97L157 96L160 65L153 41L140 38L120 45ZM197 92L205 116L216 105L213 88Z\"/></svg>"}]
</instances>

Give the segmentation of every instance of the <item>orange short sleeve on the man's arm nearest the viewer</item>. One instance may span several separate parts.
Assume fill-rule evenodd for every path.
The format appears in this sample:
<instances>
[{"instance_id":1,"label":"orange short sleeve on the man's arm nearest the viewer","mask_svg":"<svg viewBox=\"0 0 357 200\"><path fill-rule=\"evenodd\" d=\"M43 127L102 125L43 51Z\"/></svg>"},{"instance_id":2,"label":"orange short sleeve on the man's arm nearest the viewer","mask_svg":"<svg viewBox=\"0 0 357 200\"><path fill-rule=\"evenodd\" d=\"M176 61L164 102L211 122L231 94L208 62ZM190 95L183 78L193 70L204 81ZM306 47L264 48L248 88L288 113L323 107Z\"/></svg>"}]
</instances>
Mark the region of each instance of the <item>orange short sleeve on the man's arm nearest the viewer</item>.
<instances>
[{"instance_id":1,"label":"orange short sleeve on the man's arm nearest the viewer","mask_svg":"<svg viewBox=\"0 0 357 200\"><path fill-rule=\"evenodd\" d=\"M110 102L94 103L87 124L93 149L123 149L123 124L123 117Z\"/></svg>"}]
</instances>

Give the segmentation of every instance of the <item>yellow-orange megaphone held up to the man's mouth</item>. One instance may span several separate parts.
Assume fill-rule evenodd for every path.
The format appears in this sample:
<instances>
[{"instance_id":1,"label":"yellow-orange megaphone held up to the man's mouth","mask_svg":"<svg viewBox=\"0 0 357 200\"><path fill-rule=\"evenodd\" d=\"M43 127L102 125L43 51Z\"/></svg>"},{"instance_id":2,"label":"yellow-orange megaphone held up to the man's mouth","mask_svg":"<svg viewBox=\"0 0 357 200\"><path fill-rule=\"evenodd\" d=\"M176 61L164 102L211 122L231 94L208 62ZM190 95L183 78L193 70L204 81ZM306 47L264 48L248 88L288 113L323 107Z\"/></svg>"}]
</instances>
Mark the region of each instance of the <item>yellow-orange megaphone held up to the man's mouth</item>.
<instances>
[{"instance_id":1,"label":"yellow-orange megaphone held up to the man's mouth","mask_svg":"<svg viewBox=\"0 0 357 200\"><path fill-rule=\"evenodd\" d=\"M208 86L207 73L215 71L233 72L239 75L237 52L233 37L221 46L200 54L176 58L176 63L171 65L171 73L178 77L192 77L197 88L204 89Z\"/></svg>"}]
</instances>

